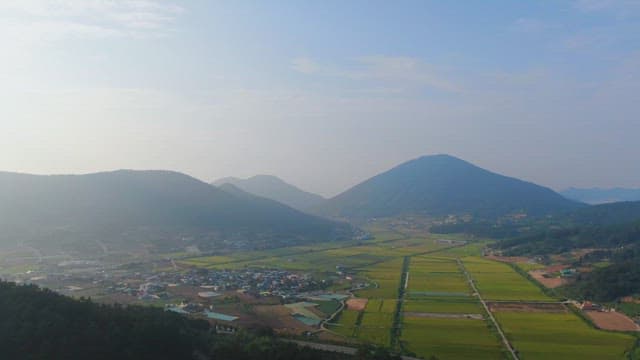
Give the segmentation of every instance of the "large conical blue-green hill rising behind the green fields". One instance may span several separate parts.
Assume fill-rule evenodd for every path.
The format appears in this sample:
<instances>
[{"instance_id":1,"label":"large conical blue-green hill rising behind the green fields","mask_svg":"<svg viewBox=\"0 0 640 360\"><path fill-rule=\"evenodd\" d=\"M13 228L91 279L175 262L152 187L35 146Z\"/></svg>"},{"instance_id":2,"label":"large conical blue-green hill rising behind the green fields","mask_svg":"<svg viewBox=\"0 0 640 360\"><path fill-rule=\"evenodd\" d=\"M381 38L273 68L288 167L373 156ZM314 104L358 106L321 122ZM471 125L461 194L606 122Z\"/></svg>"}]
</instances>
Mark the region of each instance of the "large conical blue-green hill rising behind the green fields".
<instances>
[{"instance_id":1,"label":"large conical blue-green hill rising behind the green fields","mask_svg":"<svg viewBox=\"0 0 640 360\"><path fill-rule=\"evenodd\" d=\"M347 218L406 213L543 215L583 206L554 191L498 175L448 155L424 156L329 199L315 210Z\"/></svg>"}]
</instances>

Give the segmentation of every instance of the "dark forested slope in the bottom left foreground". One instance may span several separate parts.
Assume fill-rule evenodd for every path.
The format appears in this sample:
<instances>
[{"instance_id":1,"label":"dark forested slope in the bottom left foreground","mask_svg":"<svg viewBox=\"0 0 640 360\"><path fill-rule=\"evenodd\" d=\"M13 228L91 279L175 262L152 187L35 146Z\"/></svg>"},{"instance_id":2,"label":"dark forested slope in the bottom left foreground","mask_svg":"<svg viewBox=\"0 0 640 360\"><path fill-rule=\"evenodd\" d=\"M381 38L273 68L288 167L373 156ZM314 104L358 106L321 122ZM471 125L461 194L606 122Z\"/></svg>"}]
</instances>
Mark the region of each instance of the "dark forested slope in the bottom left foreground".
<instances>
[{"instance_id":1,"label":"dark forested slope in the bottom left foreground","mask_svg":"<svg viewBox=\"0 0 640 360\"><path fill-rule=\"evenodd\" d=\"M31 285L0 282L3 359L342 360L301 348L269 331L217 335L208 322L142 306L100 305ZM358 359L394 359L366 348Z\"/></svg>"}]
</instances>

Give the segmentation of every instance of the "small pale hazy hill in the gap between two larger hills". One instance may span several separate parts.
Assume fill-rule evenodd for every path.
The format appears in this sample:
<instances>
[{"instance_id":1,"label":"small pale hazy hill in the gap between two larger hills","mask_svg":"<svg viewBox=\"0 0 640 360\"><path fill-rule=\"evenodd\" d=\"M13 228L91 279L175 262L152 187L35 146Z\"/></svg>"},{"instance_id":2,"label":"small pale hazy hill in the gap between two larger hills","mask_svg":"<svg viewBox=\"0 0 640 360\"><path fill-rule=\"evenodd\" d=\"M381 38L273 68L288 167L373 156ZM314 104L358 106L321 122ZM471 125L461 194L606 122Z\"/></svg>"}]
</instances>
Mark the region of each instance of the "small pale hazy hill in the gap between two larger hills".
<instances>
[{"instance_id":1,"label":"small pale hazy hill in the gap between two larger hills","mask_svg":"<svg viewBox=\"0 0 640 360\"><path fill-rule=\"evenodd\" d=\"M271 175L256 175L248 179L227 177L213 182L213 185L216 186L222 184L231 184L248 193L272 199L303 211L325 200L320 195L300 190L284 182L282 179Z\"/></svg>"}]
</instances>

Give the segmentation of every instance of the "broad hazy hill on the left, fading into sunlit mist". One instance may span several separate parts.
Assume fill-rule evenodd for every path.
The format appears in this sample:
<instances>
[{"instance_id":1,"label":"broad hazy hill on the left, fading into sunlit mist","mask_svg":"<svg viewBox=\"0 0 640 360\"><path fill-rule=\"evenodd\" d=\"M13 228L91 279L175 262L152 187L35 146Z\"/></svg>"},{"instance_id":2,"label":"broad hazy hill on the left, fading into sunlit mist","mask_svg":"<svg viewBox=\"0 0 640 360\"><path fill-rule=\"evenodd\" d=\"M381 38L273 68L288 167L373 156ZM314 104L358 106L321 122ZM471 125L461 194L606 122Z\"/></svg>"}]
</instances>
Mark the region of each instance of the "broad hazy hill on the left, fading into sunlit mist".
<instances>
[{"instance_id":1,"label":"broad hazy hill on the left, fading into sunlit mist","mask_svg":"<svg viewBox=\"0 0 640 360\"><path fill-rule=\"evenodd\" d=\"M0 214L0 245L206 248L232 241L269 247L350 234L346 224L169 171L0 173Z\"/></svg>"}]
</instances>

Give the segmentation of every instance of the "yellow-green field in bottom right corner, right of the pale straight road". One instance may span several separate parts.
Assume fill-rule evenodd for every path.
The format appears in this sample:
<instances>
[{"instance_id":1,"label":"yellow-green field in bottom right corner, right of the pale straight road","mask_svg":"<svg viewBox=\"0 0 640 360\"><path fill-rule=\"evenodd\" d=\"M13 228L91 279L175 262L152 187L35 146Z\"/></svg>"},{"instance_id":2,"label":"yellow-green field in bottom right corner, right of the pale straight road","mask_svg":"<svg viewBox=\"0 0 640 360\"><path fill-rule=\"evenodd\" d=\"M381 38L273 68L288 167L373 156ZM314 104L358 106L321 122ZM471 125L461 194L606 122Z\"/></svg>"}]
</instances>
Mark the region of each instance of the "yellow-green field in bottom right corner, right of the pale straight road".
<instances>
[{"instance_id":1,"label":"yellow-green field in bottom right corner, right of the pale straight road","mask_svg":"<svg viewBox=\"0 0 640 360\"><path fill-rule=\"evenodd\" d=\"M623 359L635 338L595 330L572 313L495 314L522 360Z\"/></svg>"}]
</instances>

